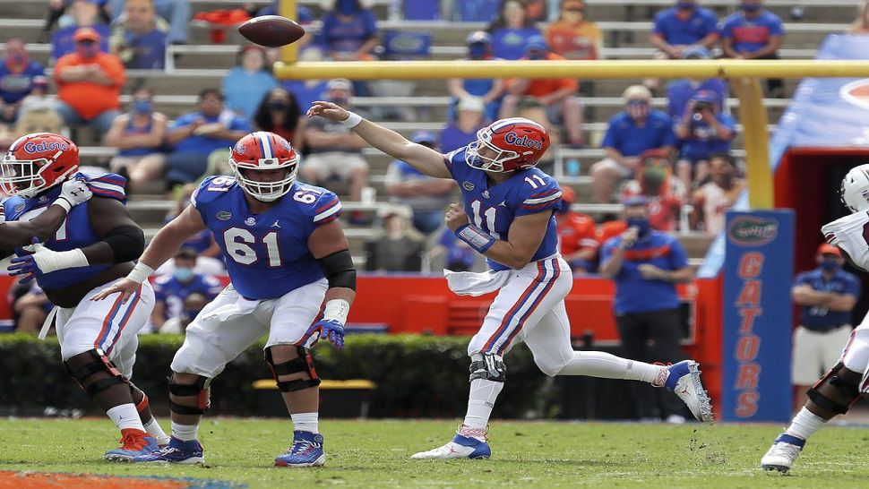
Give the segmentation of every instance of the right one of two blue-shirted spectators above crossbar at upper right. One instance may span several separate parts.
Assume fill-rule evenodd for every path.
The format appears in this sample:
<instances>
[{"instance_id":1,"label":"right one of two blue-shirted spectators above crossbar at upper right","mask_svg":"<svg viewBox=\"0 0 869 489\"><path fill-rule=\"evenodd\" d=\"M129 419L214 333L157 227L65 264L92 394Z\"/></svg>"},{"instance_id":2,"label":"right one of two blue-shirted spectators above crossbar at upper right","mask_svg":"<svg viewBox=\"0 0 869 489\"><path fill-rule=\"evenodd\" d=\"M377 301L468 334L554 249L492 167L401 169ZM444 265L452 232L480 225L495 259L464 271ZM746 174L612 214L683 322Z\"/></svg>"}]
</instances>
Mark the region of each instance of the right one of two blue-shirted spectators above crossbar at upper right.
<instances>
[{"instance_id":1,"label":"right one of two blue-shirted spectators above crossbar at upper right","mask_svg":"<svg viewBox=\"0 0 869 489\"><path fill-rule=\"evenodd\" d=\"M775 13L763 10L762 0L742 0L741 12L731 14L721 24L721 49L724 56L736 59L779 59L785 28ZM770 97L784 97L784 82L767 78Z\"/></svg>"}]
</instances>

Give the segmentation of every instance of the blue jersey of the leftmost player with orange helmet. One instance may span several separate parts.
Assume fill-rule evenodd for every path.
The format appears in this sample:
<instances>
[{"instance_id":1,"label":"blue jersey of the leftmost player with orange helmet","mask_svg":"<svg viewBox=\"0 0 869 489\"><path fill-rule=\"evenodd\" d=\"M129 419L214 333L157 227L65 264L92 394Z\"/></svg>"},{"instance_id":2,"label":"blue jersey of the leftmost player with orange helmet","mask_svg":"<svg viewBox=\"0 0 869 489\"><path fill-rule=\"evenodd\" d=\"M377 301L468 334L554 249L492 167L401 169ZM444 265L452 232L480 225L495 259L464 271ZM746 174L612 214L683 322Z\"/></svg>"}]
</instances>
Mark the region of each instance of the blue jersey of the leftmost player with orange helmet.
<instances>
[{"instance_id":1,"label":"blue jersey of the leftmost player with orange helmet","mask_svg":"<svg viewBox=\"0 0 869 489\"><path fill-rule=\"evenodd\" d=\"M94 197L106 197L126 202L126 195L124 193L126 180L123 176L111 173L100 176L88 176L78 173L73 178L83 178L88 183L88 186L90 186ZM23 199L22 197L10 197L6 199L3 202L6 220L15 221L36 218L47 210L52 202L55 202L60 192L61 186L56 185L47 192L30 199ZM55 237L49 239L44 245L49 250L65 252L76 248L84 248L100 241L100 238L94 234L93 229L90 227L89 205L90 201L73 207L66 216L64 224L57 229ZM15 253L19 256L29 254L22 250L22 248L16 248ZM90 279L100 271L107 270L112 266L114 265L92 265L89 267L56 270L40 275L36 280L39 283L39 287L44 289L70 287Z\"/></svg>"}]
</instances>

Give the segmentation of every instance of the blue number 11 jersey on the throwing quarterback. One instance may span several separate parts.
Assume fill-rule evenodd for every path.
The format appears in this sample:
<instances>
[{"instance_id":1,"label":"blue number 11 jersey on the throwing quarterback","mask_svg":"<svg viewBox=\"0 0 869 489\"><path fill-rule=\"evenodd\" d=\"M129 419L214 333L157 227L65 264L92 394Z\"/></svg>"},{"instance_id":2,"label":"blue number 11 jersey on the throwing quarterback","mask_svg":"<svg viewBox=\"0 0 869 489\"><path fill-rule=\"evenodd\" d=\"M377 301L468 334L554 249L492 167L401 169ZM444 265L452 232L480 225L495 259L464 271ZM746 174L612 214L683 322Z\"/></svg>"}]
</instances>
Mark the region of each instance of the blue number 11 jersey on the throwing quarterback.
<instances>
[{"instance_id":1,"label":"blue number 11 jersey on the throwing quarterback","mask_svg":"<svg viewBox=\"0 0 869 489\"><path fill-rule=\"evenodd\" d=\"M486 172L471 167L465 161L467 148L446 155L446 166L452 178L459 183L465 202L465 212L475 226L497 239L507 241L507 232L513 219L537 212L549 212L549 225L543 242L531 261L551 256L558 251L558 233L555 230L554 210L561 207L561 188L552 176L538 168L519 170L506 181L489 187ZM486 259L492 270L510 270L510 267Z\"/></svg>"}]
</instances>

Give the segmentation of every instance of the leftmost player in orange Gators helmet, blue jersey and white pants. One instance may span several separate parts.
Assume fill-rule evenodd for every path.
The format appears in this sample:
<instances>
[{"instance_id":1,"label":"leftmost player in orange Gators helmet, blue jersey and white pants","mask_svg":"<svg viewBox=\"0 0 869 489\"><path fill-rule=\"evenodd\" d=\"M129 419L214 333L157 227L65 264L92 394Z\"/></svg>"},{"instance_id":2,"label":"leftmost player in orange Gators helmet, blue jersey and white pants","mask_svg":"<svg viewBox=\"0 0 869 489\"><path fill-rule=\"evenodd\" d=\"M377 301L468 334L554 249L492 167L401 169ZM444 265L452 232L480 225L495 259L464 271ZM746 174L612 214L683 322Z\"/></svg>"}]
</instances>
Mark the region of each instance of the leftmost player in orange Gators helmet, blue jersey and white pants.
<instances>
[{"instance_id":1,"label":"leftmost player in orange Gators helmet, blue jersey and white pants","mask_svg":"<svg viewBox=\"0 0 869 489\"><path fill-rule=\"evenodd\" d=\"M86 176L78 166L79 150L64 136L34 133L13 142L0 172L0 186L12 195L3 205L0 239L15 246L10 273L36 279L56 305L40 336L53 322L67 372L121 430L121 448L108 450L105 458L125 461L168 442L151 416L148 397L129 380L139 344L136 332L148 320L154 293L142 284L126 304L120 296L105 303L89 300L133 270L144 235L126 211L124 178ZM21 227L43 215L51 227L58 219L61 224L53 233L36 231L43 243L28 246ZM9 241L12 236L15 243Z\"/></svg>"}]
</instances>

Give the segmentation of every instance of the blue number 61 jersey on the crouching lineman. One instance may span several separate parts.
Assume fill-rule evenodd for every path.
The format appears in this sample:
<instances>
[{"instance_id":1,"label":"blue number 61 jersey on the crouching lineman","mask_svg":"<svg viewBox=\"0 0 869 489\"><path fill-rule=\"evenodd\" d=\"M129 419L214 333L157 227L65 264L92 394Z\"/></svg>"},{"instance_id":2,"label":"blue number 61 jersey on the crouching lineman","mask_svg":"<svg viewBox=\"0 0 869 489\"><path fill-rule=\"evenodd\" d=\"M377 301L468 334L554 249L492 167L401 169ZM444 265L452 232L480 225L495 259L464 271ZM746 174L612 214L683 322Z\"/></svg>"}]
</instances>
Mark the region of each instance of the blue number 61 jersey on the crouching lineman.
<instances>
[{"instance_id":1,"label":"blue number 61 jersey on the crouching lineman","mask_svg":"<svg viewBox=\"0 0 869 489\"><path fill-rule=\"evenodd\" d=\"M296 182L271 209L254 214L234 177L211 176L190 200L214 233L242 296L274 299L323 279L307 244L316 227L340 216L334 193Z\"/></svg>"}]
</instances>

